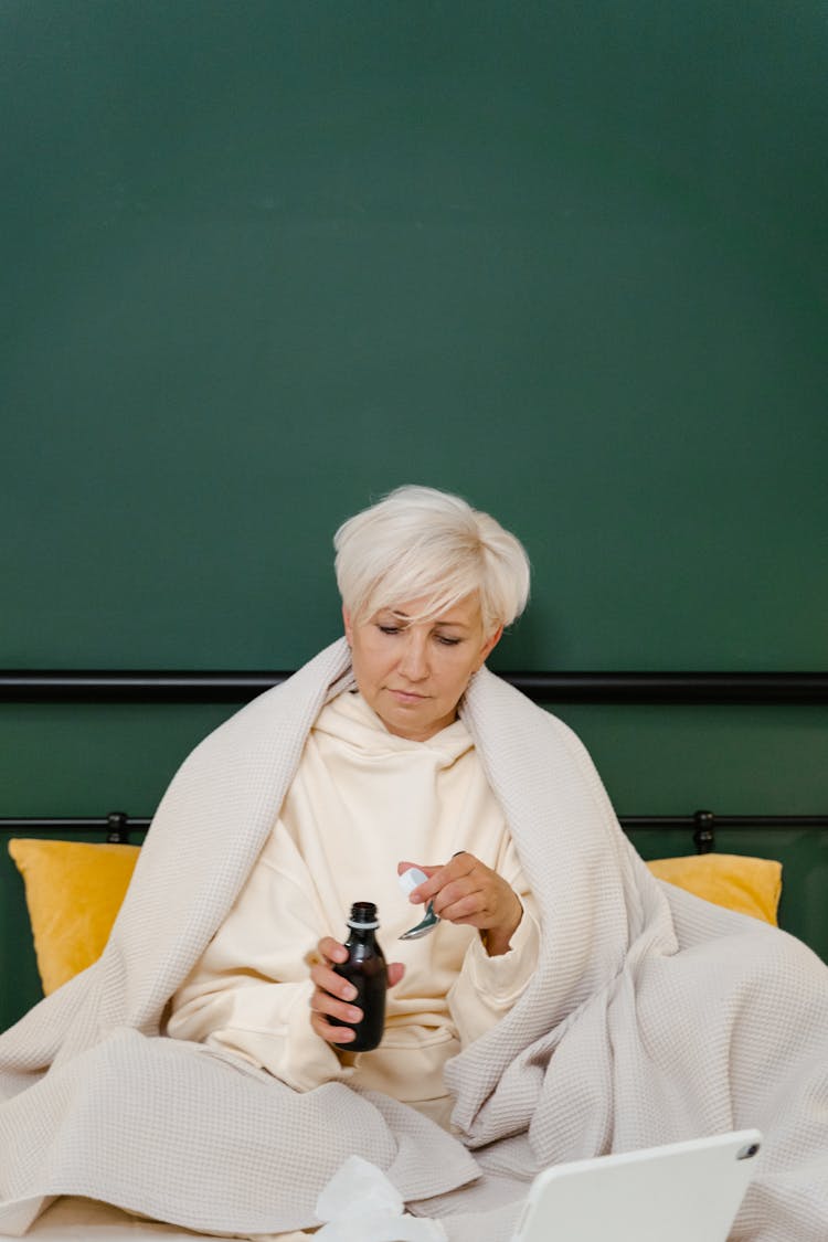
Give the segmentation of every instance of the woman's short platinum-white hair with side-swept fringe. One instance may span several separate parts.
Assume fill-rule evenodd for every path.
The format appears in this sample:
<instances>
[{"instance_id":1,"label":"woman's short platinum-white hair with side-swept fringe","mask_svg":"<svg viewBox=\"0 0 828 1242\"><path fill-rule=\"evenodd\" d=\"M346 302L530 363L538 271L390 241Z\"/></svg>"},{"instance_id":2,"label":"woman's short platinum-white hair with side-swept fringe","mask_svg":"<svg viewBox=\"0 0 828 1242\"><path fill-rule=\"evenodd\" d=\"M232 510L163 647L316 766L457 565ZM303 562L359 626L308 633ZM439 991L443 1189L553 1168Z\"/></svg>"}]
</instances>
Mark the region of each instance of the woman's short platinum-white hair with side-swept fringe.
<instances>
[{"instance_id":1,"label":"woman's short platinum-white hair with side-swept fringe","mask_svg":"<svg viewBox=\"0 0 828 1242\"><path fill-rule=\"evenodd\" d=\"M336 585L355 622L426 600L431 620L479 594L487 635L510 625L529 599L529 556L515 535L459 496L397 487L334 535Z\"/></svg>"}]
</instances>

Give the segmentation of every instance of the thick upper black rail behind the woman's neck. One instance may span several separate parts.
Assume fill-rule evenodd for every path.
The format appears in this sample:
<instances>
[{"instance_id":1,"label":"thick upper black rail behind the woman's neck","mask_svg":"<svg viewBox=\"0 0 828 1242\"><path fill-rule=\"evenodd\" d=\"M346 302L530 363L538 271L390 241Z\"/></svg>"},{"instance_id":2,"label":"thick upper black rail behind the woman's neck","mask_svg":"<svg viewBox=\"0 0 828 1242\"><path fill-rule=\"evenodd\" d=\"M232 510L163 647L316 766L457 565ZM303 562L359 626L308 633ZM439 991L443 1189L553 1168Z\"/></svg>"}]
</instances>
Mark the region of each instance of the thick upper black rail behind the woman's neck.
<instances>
[{"instance_id":1,"label":"thick upper black rail behind the woman's neck","mask_svg":"<svg viewBox=\"0 0 828 1242\"><path fill-rule=\"evenodd\" d=\"M0 672L6 702L242 703L289 672ZM828 703L828 673L499 671L538 703Z\"/></svg>"}]
</instances>

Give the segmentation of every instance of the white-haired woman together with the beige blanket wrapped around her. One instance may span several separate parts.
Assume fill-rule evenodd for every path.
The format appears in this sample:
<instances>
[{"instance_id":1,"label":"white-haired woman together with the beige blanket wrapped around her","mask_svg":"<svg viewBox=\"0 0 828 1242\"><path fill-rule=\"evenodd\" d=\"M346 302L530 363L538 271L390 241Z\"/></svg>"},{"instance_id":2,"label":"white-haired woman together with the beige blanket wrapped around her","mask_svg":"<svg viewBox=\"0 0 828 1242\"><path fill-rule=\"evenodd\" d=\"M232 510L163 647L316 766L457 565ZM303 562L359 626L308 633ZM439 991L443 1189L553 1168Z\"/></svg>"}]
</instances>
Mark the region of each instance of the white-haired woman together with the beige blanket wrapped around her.
<instances>
[{"instance_id":1,"label":"white-haired woman together with the beige blanket wrapped around her","mask_svg":"<svg viewBox=\"0 0 828 1242\"><path fill-rule=\"evenodd\" d=\"M506 1242L546 1165L756 1126L734 1237L824 1242L826 966L655 881L583 746L484 667L528 591L497 523L407 488L336 542L346 638L192 751L99 961L0 1038L0 1232L65 1194L304 1230L358 1154L451 1242ZM353 1056L355 899L400 961Z\"/></svg>"}]
</instances>

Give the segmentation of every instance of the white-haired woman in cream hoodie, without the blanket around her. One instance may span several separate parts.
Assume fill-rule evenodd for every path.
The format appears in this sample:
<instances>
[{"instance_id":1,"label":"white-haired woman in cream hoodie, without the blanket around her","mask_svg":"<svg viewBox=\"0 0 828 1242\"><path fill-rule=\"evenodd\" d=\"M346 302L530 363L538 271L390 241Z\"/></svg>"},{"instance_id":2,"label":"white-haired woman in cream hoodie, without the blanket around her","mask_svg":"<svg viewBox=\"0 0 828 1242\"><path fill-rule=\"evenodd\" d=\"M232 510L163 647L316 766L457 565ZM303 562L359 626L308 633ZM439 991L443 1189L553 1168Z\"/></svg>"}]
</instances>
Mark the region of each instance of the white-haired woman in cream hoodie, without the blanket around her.
<instances>
[{"instance_id":1,"label":"white-haired woman in cream hoodie, without the blanket around her","mask_svg":"<svg viewBox=\"0 0 828 1242\"><path fill-rule=\"evenodd\" d=\"M349 1081L448 1126L443 1066L511 1009L536 965L529 886L458 719L470 678L525 605L529 563L493 518L425 487L351 518L335 546L356 686L314 722L273 833L166 1030L298 1090ZM411 903L433 902L442 922L401 943L416 919L396 879L412 863L428 883ZM401 960L389 969L380 1048L349 1054L354 1032L341 1023L361 1011L333 970L348 954L331 933L361 897L377 903L381 940Z\"/></svg>"}]
</instances>

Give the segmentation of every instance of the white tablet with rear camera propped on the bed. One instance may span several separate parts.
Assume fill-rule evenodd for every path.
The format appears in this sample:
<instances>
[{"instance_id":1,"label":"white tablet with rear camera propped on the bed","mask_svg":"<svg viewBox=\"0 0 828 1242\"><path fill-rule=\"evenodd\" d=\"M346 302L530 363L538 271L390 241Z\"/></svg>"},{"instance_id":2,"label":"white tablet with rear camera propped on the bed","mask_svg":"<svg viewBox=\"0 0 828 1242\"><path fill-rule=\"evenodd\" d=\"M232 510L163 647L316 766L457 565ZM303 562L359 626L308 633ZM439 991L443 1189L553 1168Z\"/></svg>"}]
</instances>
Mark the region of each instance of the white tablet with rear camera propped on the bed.
<instances>
[{"instance_id":1,"label":"white tablet with rear camera propped on the bed","mask_svg":"<svg viewBox=\"0 0 828 1242\"><path fill-rule=\"evenodd\" d=\"M761 1141L737 1130L554 1165L513 1242L726 1242Z\"/></svg>"}]
</instances>

